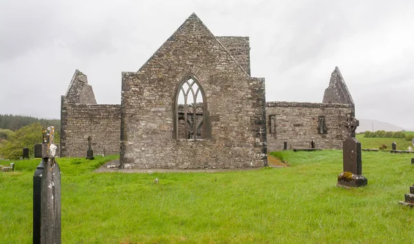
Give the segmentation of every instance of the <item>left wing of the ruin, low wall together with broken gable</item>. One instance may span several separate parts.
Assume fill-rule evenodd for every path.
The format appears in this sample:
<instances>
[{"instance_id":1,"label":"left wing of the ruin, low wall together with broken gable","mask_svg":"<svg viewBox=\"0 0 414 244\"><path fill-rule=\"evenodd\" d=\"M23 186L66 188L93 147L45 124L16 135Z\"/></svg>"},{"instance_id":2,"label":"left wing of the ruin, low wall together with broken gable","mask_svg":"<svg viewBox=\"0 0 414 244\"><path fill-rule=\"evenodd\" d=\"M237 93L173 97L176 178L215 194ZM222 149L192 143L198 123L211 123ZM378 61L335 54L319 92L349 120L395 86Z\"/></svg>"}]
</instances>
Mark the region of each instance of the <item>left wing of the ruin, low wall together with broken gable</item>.
<instances>
[{"instance_id":1,"label":"left wing of the ruin, low wall together with broken gable","mask_svg":"<svg viewBox=\"0 0 414 244\"><path fill-rule=\"evenodd\" d=\"M86 75L77 70L61 97L61 156L86 156L88 136L95 154L119 154L120 124L120 105L97 105Z\"/></svg>"}]
</instances>

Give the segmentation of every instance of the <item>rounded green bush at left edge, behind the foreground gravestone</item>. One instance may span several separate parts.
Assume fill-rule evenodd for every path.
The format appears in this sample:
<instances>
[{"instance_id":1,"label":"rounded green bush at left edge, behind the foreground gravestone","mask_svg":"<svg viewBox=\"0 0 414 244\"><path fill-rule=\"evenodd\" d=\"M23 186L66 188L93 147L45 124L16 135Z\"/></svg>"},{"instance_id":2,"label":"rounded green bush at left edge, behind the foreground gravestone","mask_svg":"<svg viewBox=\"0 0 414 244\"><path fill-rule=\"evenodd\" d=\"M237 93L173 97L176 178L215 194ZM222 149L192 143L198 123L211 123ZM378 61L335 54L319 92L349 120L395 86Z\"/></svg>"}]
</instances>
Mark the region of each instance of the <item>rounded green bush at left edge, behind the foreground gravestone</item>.
<instances>
[{"instance_id":1,"label":"rounded green bush at left edge, behind the foreground gravestone","mask_svg":"<svg viewBox=\"0 0 414 244\"><path fill-rule=\"evenodd\" d=\"M0 143L0 155L6 159L19 159L23 148L29 148L29 155L34 156L34 144L41 143L43 128L40 123L27 125Z\"/></svg>"}]
</instances>

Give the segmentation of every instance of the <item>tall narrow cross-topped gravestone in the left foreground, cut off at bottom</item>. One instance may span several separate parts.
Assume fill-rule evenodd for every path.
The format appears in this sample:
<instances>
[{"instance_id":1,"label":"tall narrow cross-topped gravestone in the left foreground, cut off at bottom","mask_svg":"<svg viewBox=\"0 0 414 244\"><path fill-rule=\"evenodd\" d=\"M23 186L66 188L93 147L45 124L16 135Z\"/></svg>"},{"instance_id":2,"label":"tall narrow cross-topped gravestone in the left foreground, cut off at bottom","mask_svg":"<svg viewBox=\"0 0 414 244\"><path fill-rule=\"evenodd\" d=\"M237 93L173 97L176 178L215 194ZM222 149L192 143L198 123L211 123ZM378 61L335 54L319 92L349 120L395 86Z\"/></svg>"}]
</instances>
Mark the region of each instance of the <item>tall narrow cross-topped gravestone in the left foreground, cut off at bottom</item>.
<instances>
[{"instance_id":1,"label":"tall narrow cross-topped gravestone in the left foreground, cut off at bottom","mask_svg":"<svg viewBox=\"0 0 414 244\"><path fill-rule=\"evenodd\" d=\"M34 145L41 158L33 176L33 243L61 243L61 173L55 161L55 128L43 130L43 143Z\"/></svg>"}]
</instances>

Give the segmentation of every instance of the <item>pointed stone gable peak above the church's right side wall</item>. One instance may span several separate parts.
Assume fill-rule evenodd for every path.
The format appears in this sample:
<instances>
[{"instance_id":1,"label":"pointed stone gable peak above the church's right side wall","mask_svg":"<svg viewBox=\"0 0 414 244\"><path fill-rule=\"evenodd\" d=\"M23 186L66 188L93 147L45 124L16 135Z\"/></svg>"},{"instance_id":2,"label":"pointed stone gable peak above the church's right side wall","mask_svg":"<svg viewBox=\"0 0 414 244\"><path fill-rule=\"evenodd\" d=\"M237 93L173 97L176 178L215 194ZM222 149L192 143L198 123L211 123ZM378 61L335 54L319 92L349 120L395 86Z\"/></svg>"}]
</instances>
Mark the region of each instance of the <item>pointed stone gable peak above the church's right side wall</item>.
<instances>
[{"instance_id":1,"label":"pointed stone gable peak above the church's right side wall","mask_svg":"<svg viewBox=\"0 0 414 244\"><path fill-rule=\"evenodd\" d=\"M331 74L329 86L324 93L322 103L342 103L354 105L351 93L349 93L344 77L338 67L335 67Z\"/></svg>"}]
</instances>

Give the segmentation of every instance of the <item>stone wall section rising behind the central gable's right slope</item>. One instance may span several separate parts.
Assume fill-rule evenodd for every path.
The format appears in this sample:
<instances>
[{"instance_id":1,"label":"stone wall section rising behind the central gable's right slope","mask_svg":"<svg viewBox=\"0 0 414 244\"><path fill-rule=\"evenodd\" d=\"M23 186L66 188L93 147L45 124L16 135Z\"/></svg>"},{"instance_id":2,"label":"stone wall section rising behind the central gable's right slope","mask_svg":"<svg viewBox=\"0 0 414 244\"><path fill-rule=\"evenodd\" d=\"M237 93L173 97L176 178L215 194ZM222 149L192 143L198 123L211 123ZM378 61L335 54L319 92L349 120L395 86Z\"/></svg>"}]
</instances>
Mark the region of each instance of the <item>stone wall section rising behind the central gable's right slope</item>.
<instances>
[{"instance_id":1,"label":"stone wall section rising behind the central gable's right slope","mask_svg":"<svg viewBox=\"0 0 414 244\"><path fill-rule=\"evenodd\" d=\"M250 42L248 37L216 37L242 68L250 75Z\"/></svg>"}]
</instances>

